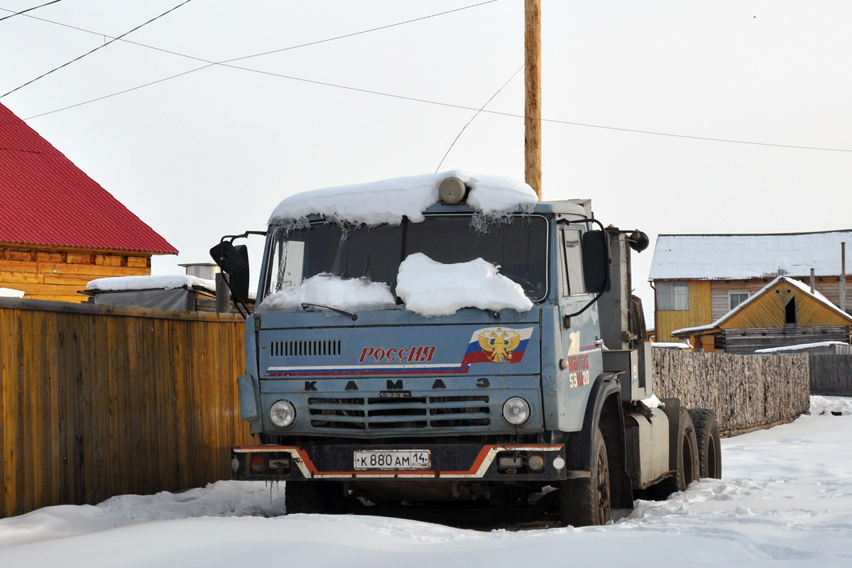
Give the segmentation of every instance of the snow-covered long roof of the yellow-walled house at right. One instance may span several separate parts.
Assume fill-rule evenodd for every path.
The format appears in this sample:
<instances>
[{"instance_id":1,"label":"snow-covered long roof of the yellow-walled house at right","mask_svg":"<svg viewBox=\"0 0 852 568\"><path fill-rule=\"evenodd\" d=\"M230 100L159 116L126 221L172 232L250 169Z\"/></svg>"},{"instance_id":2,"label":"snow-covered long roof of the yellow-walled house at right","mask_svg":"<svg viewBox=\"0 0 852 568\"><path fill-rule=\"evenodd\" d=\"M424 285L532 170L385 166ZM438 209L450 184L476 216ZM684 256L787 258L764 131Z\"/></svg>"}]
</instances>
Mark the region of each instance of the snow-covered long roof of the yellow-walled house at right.
<instances>
[{"instance_id":1,"label":"snow-covered long roof of the yellow-walled house at right","mask_svg":"<svg viewBox=\"0 0 852 568\"><path fill-rule=\"evenodd\" d=\"M747 280L839 276L840 244L852 259L852 230L748 235L659 235L651 280ZM847 265L847 273L852 261Z\"/></svg>"}]
</instances>

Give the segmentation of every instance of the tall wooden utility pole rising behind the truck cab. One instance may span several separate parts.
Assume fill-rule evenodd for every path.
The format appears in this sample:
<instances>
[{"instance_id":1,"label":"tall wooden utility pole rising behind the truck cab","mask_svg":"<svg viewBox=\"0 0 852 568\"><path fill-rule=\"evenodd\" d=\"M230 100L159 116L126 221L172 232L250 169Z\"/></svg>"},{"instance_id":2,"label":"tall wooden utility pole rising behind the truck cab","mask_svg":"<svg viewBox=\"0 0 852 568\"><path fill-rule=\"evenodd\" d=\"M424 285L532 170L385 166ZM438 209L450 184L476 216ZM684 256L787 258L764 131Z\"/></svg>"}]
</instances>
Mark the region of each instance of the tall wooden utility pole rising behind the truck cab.
<instances>
[{"instance_id":1,"label":"tall wooden utility pole rising behind the truck cab","mask_svg":"<svg viewBox=\"0 0 852 568\"><path fill-rule=\"evenodd\" d=\"M541 0L524 0L524 179L541 201Z\"/></svg>"}]
</instances>

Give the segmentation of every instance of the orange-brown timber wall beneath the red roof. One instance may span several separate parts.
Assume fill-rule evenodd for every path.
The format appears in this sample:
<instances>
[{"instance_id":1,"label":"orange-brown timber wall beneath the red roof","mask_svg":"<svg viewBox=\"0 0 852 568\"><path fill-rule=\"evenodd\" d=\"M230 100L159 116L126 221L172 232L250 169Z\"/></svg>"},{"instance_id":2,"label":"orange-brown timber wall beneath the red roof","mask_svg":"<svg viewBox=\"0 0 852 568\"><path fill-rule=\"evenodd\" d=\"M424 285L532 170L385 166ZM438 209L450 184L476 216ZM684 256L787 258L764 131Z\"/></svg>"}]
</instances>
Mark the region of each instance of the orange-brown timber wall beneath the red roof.
<instances>
[{"instance_id":1,"label":"orange-brown timber wall beneath the red roof","mask_svg":"<svg viewBox=\"0 0 852 568\"><path fill-rule=\"evenodd\" d=\"M26 299L83 302L87 298L78 290L90 280L150 273L150 255L0 244L0 288L21 290Z\"/></svg>"}]
</instances>

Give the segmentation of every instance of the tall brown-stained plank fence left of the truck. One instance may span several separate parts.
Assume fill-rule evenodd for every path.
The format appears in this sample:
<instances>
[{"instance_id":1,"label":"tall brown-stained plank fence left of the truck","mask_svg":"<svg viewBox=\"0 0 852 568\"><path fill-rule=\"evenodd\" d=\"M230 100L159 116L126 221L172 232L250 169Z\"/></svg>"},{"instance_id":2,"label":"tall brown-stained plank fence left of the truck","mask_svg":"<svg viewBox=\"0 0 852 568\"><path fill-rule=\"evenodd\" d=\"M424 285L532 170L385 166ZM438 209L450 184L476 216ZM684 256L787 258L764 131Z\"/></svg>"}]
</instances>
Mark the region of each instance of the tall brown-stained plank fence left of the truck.
<instances>
[{"instance_id":1,"label":"tall brown-stained plank fence left of the truck","mask_svg":"<svg viewBox=\"0 0 852 568\"><path fill-rule=\"evenodd\" d=\"M0 298L0 517L205 485L250 442L239 316Z\"/></svg>"}]
</instances>

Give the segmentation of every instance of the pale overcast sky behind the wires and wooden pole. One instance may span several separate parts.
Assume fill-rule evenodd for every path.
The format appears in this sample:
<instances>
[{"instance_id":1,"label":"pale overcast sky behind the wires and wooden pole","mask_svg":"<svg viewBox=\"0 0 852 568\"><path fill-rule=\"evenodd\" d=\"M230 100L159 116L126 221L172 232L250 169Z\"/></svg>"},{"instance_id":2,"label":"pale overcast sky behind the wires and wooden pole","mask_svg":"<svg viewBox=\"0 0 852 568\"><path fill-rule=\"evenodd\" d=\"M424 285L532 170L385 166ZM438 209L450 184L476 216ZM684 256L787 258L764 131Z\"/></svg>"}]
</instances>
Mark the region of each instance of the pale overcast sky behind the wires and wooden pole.
<instances>
[{"instance_id":1,"label":"pale overcast sky behind the wires and wooden pole","mask_svg":"<svg viewBox=\"0 0 852 568\"><path fill-rule=\"evenodd\" d=\"M117 36L177 3L75 0L30 14ZM472 3L193 0L127 39L225 60ZM852 150L848 2L543 0L542 12L544 118ZM104 41L26 15L0 21L0 94ZM478 108L522 62L523 2L498 0L236 64ZM119 41L0 102L28 118L201 65ZM487 109L523 114L522 72ZM293 192L435 171L472 115L217 66L28 122L181 250L155 257L166 274L210 261L222 234L264 228ZM852 227L852 152L544 123L543 155L545 199L591 198L599 219L641 228L652 249L659 233ZM522 178L522 119L482 113L441 165L455 168ZM652 252L634 256L647 313Z\"/></svg>"}]
</instances>

